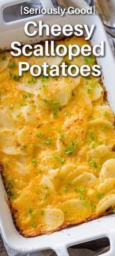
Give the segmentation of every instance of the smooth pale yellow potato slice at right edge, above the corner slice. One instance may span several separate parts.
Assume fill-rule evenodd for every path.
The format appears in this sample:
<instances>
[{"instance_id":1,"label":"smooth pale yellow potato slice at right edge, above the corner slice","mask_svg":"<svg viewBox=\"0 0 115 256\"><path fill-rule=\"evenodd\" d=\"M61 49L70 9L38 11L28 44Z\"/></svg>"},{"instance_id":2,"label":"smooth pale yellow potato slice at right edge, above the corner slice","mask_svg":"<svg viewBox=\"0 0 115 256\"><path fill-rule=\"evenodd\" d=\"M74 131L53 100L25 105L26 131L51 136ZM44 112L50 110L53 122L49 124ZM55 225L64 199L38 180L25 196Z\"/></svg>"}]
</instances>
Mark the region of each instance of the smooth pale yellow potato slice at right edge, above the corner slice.
<instances>
[{"instance_id":1,"label":"smooth pale yellow potato slice at right edge, above the corner slice","mask_svg":"<svg viewBox=\"0 0 115 256\"><path fill-rule=\"evenodd\" d=\"M108 178L115 178L115 159L107 160L101 169L100 172L100 179L108 179Z\"/></svg>"}]
</instances>

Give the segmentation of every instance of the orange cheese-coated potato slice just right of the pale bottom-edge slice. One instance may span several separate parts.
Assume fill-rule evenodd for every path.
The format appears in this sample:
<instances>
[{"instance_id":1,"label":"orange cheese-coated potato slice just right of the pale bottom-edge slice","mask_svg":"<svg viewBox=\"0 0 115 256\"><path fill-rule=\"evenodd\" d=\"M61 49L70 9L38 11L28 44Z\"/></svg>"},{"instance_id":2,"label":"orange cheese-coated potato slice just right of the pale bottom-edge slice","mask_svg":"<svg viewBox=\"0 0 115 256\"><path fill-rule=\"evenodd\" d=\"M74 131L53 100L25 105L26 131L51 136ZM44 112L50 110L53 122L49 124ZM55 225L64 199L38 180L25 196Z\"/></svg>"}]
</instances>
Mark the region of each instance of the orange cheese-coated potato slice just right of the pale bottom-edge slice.
<instances>
[{"instance_id":1,"label":"orange cheese-coated potato slice just right of the pale bottom-edge slice","mask_svg":"<svg viewBox=\"0 0 115 256\"><path fill-rule=\"evenodd\" d=\"M68 200L57 205L57 208L64 212L66 222L84 221L92 212L90 203L85 200Z\"/></svg>"}]
</instances>

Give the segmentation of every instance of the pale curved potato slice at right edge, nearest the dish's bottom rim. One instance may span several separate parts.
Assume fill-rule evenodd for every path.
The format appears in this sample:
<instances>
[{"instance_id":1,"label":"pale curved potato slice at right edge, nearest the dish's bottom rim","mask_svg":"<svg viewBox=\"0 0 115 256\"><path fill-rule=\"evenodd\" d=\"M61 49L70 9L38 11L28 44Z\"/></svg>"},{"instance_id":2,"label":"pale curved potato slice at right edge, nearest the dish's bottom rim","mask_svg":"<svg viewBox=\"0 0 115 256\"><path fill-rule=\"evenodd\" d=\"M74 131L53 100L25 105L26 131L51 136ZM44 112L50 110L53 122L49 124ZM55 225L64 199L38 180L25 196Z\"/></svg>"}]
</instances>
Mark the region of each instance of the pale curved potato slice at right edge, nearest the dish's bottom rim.
<instances>
[{"instance_id":1,"label":"pale curved potato slice at right edge, nearest the dish's bottom rim","mask_svg":"<svg viewBox=\"0 0 115 256\"><path fill-rule=\"evenodd\" d=\"M99 201L96 206L96 214L105 212L111 206L115 206L115 194L109 194Z\"/></svg>"}]
</instances>

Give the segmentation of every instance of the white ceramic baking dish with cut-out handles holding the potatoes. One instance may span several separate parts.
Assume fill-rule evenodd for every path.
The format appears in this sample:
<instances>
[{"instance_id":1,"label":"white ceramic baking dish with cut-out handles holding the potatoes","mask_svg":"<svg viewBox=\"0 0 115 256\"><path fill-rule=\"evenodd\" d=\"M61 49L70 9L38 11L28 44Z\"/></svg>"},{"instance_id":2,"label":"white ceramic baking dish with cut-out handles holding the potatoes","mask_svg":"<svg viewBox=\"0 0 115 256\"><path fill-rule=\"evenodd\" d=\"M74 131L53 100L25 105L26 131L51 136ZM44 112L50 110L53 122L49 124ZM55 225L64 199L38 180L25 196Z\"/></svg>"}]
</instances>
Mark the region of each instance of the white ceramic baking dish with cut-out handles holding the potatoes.
<instances>
[{"instance_id":1,"label":"white ceramic baking dish with cut-out handles holding the potatoes","mask_svg":"<svg viewBox=\"0 0 115 256\"><path fill-rule=\"evenodd\" d=\"M16 4L26 0L1 0L0 1L0 48L10 48L13 41L23 43L34 43L41 40L39 37L30 38L24 34L24 25L28 20L37 22L42 20L44 23L53 25L60 24L87 24L96 25L95 33L92 37L92 45L99 44L104 40L106 44L105 56L97 58L97 63L102 67L102 77L104 85L108 90L108 101L115 112L115 60L111 51L106 32L96 15L65 15L60 16L34 16L11 23L4 23L2 12L9 5ZM48 0L41 0L43 7L52 7L52 3ZM46 6L47 3L47 6ZM10 15L10 14L9 14ZM45 37L42 37L45 39ZM109 139L109 138L108 138ZM0 228L6 243L15 250L20 252L35 252L44 249L53 249L58 256L69 256L67 248L70 245L79 244L95 240L101 237L110 239L110 251L103 256L115 256L115 215L109 215L81 224L70 229L64 229L48 235L41 235L32 238L24 238L16 230L11 217L10 210L5 201L5 191L0 179Z\"/></svg>"}]
</instances>

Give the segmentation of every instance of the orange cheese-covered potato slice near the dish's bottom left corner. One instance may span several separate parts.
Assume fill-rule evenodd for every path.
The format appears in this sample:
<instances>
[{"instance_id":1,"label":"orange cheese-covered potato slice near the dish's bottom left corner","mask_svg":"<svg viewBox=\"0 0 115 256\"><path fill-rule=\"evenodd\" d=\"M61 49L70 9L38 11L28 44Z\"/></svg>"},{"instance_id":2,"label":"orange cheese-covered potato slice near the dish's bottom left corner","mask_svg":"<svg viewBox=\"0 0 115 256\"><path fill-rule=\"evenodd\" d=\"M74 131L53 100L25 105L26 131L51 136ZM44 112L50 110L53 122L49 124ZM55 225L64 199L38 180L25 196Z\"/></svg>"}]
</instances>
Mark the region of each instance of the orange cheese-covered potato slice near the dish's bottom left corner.
<instances>
[{"instance_id":1,"label":"orange cheese-covered potato slice near the dish's bottom left corner","mask_svg":"<svg viewBox=\"0 0 115 256\"><path fill-rule=\"evenodd\" d=\"M28 217L29 209L37 210L47 207L51 198L56 195L55 187L51 180L43 175L33 176L31 182L27 179L28 185L21 191L19 198L14 201L14 206L19 209L20 215Z\"/></svg>"}]
</instances>

